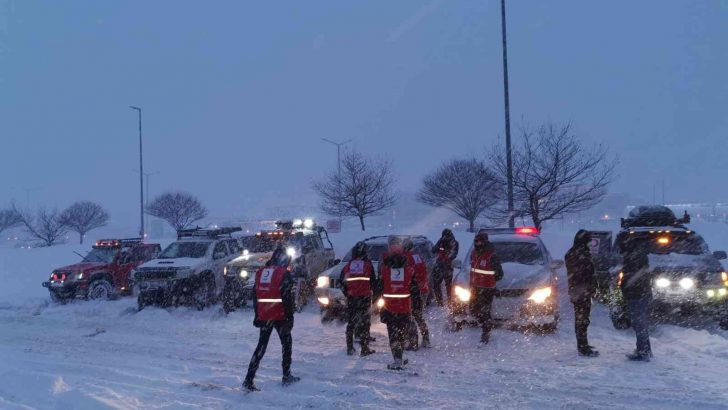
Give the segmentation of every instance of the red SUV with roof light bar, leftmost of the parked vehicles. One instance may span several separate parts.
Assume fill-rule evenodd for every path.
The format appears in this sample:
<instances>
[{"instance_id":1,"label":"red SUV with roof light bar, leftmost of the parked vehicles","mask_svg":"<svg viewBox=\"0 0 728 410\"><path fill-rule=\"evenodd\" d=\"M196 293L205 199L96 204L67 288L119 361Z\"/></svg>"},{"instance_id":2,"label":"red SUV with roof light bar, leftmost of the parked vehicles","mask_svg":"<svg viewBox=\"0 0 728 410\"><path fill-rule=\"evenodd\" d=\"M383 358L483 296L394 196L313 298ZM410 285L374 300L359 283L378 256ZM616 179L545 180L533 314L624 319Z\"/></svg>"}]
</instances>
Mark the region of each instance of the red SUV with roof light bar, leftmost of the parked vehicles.
<instances>
[{"instance_id":1,"label":"red SUV with roof light bar, leftmost of the parked vehicles","mask_svg":"<svg viewBox=\"0 0 728 410\"><path fill-rule=\"evenodd\" d=\"M81 262L53 270L43 287L55 302L130 295L131 271L160 251L158 243L142 243L141 239L102 239Z\"/></svg>"}]
</instances>

